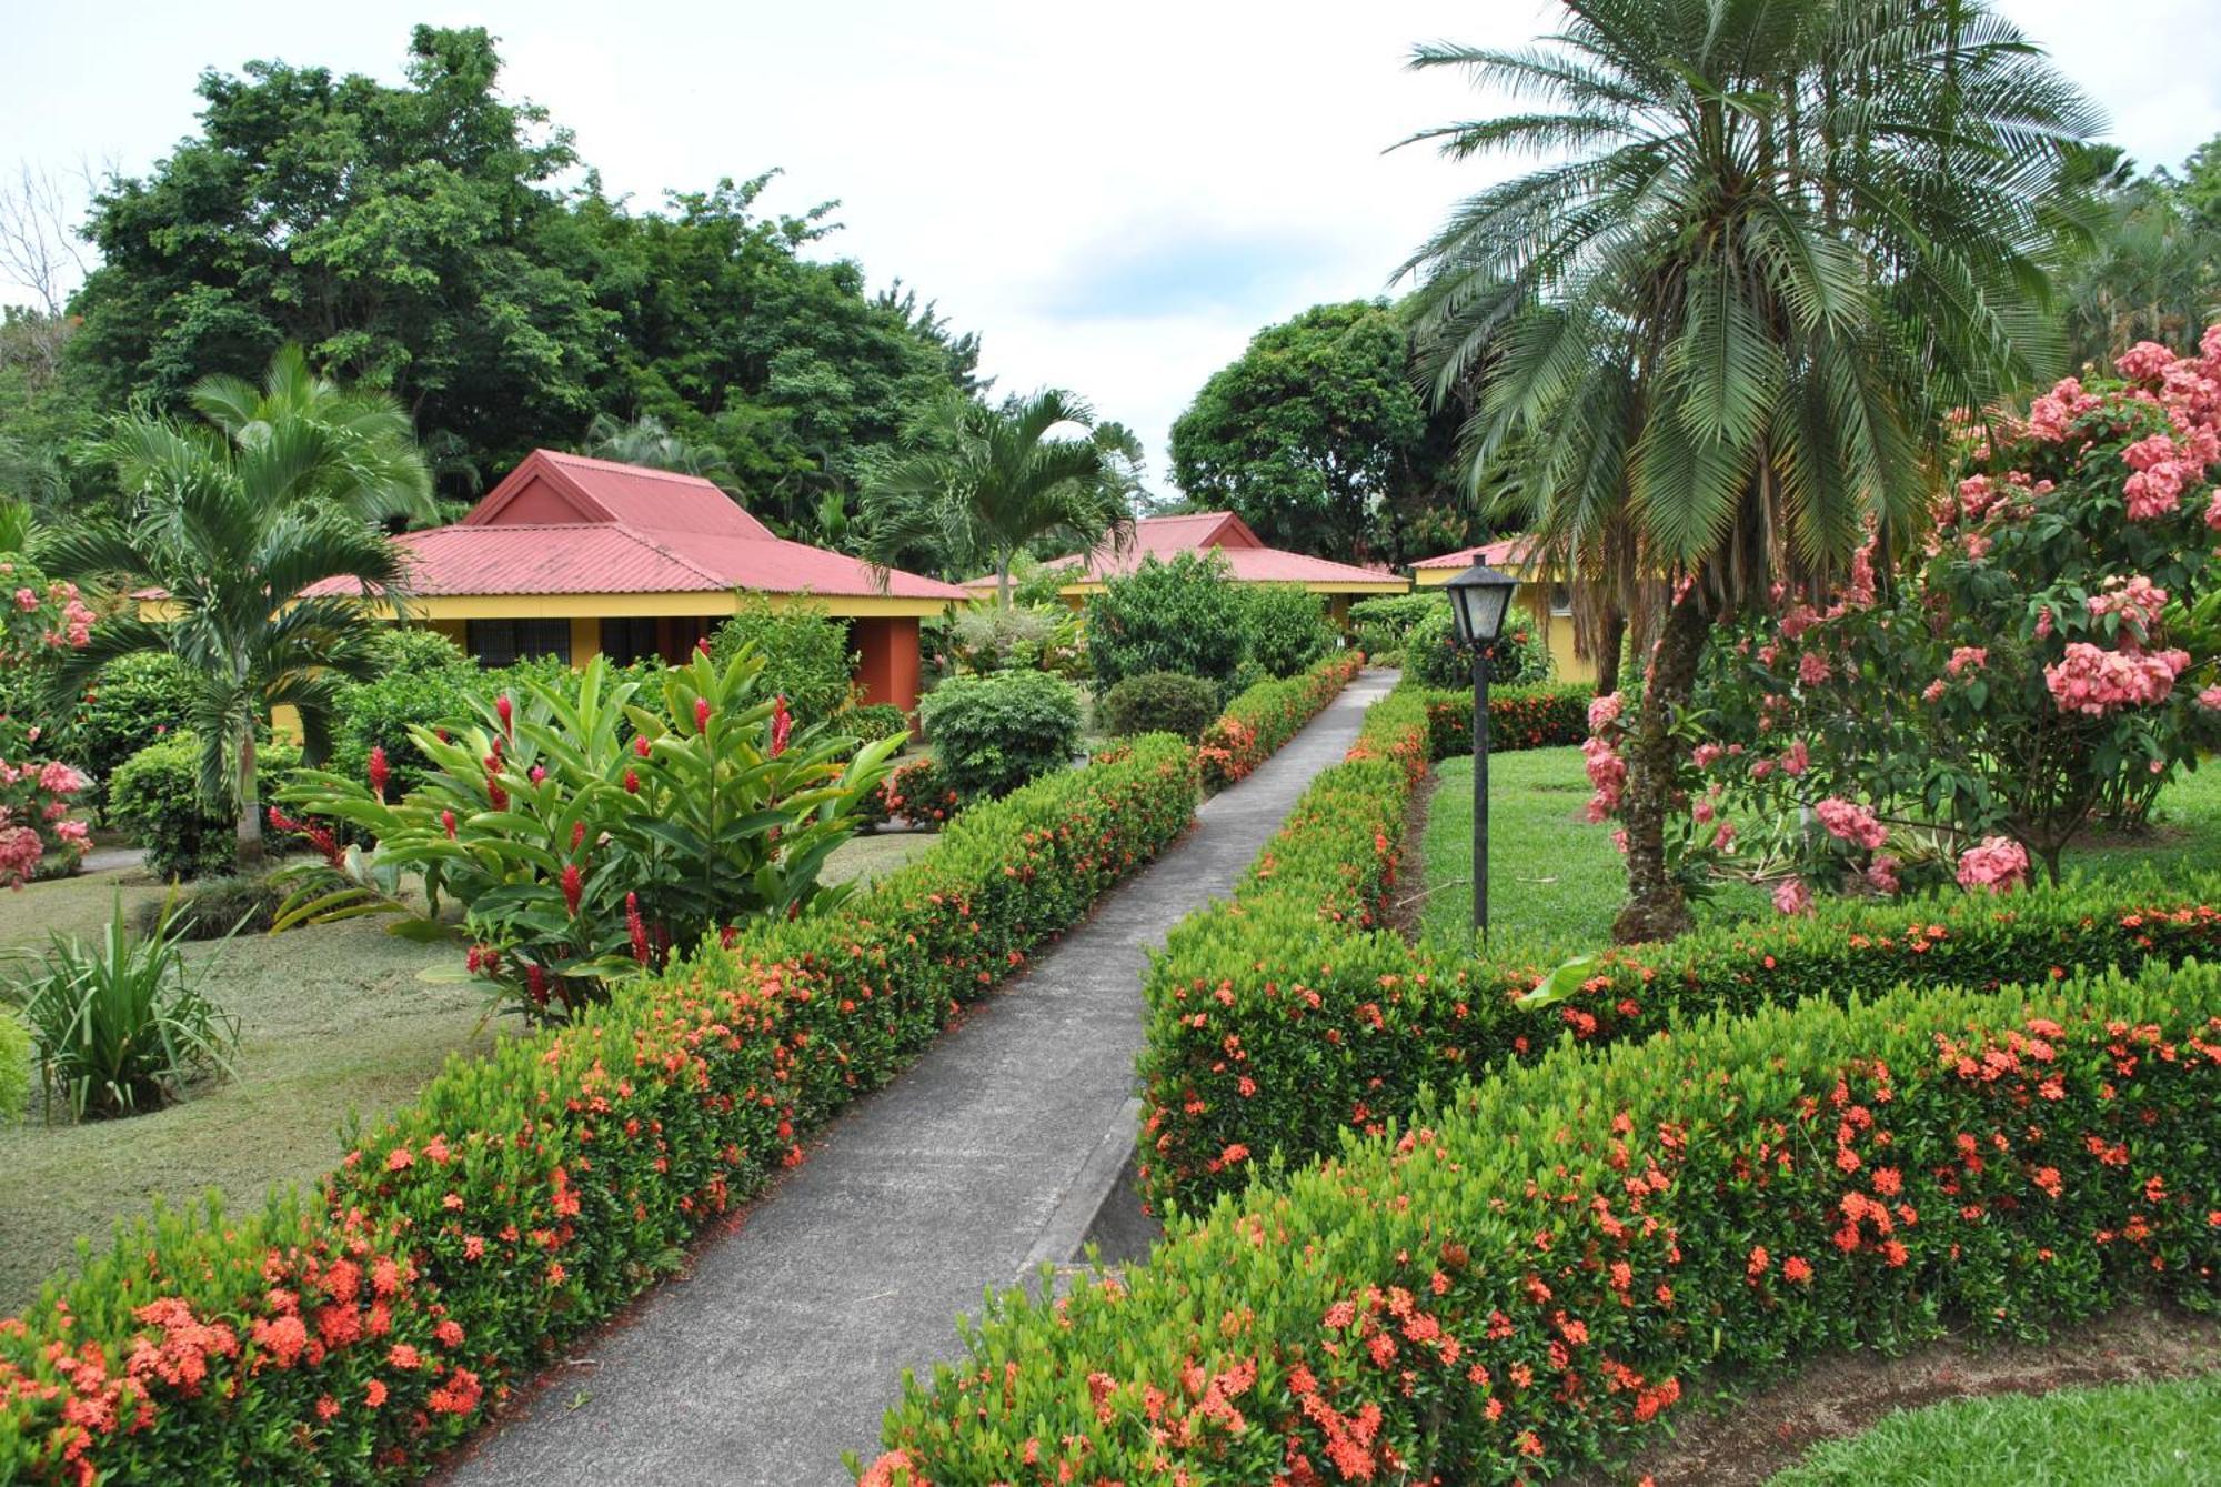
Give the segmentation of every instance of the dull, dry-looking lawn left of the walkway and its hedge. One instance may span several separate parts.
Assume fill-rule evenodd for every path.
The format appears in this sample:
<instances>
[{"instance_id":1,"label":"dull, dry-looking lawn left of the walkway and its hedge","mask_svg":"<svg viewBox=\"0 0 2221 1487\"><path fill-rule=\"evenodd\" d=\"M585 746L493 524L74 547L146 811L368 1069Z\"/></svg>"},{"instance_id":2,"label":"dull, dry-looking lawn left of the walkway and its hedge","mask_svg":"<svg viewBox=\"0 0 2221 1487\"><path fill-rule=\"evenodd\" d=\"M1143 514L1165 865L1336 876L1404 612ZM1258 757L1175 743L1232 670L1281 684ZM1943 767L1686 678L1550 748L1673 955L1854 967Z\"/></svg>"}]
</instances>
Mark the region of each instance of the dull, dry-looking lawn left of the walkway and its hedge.
<instances>
[{"instance_id":1,"label":"dull, dry-looking lawn left of the walkway and its hedge","mask_svg":"<svg viewBox=\"0 0 2221 1487\"><path fill-rule=\"evenodd\" d=\"M857 837L824 877L880 877L931 843L922 832ZM0 948L42 948L49 928L91 939L118 894L127 910L162 897L131 877L144 874L0 892ZM517 1028L489 1019L482 992L418 981L418 970L453 961L453 945L415 945L375 921L240 934L222 952L195 943L184 954L220 954L209 992L240 1019L238 1079L155 1114L87 1125L47 1125L33 1094L22 1123L0 1125L0 1316L71 1263L78 1236L107 1247L115 1221L155 1198L184 1205L215 1190L231 1212L249 1212L273 1183L313 1183L340 1159L351 1112L378 1119L451 1052L480 1052Z\"/></svg>"}]
</instances>

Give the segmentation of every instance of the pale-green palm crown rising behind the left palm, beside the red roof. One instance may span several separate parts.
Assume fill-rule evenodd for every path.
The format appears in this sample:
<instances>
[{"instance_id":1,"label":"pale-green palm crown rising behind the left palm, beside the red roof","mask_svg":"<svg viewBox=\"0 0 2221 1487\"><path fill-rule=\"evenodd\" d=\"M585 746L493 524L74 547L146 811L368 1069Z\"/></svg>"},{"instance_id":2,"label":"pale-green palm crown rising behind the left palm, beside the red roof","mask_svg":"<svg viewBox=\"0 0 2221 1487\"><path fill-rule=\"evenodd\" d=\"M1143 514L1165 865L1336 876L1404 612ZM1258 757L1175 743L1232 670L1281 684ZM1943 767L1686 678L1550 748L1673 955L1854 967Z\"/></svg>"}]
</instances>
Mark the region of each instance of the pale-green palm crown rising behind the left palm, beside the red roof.
<instances>
[{"instance_id":1,"label":"pale-green palm crown rising behind the left palm, beside the red roof","mask_svg":"<svg viewBox=\"0 0 2221 1487\"><path fill-rule=\"evenodd\" d=\"M440 519L409 413L384 393L309 371L300 346L280 346L260 386L202 377L187 402L273 479L275 499L326 502L366 522ZM140 482L124 473L124 484Z\"/></svg>"}]
</instances>

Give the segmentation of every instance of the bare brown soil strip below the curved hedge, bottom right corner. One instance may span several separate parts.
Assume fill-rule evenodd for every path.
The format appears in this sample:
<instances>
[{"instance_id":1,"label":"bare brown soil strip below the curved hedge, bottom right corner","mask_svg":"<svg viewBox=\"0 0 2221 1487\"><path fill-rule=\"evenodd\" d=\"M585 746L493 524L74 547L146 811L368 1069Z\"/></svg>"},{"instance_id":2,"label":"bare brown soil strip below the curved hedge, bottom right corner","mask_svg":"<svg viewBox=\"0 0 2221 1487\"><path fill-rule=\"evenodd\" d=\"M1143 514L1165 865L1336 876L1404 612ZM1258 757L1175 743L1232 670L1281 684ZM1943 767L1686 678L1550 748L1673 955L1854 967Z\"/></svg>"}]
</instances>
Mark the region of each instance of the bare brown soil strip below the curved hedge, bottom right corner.
<instances>
[{"instance_id":1,"label":"bare brown soil strip below the curved hedge, bottom right corner","mask_svg":"<svg viewBox=\"0 0 2221 1487\"><path fill-rule=\"evenodd\" d=\"M1821 1440L1857 1436L1895 1409L2214 1369L2221 1369L2221 1318L2145 1307L2070 1327L2041 1345L1950 1338L1903 1358L1837 1354L1717 1414L1690 1414L1672 1440L1570 1480L1604 1487L1648 1476L1657 1487L1759 1487Z\"/></svg>"}]
</instances>

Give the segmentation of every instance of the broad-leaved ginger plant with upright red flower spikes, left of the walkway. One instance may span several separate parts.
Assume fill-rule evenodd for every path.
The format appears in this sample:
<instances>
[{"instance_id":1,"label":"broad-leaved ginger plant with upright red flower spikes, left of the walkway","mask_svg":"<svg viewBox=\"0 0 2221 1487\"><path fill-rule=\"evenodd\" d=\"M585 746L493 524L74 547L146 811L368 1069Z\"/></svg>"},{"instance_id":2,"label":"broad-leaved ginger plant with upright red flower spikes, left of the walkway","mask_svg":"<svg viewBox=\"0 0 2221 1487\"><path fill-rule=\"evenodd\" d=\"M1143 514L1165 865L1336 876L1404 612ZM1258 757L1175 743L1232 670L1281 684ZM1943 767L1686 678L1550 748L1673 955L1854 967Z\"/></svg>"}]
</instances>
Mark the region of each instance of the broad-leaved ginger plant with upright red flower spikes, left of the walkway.
<instances>
[{"instance_id":1,"label":"broad-leaved ginger plant with upright red flower spikes, left of the walkway","mask_svg":"<svg viewBox=\"0 0 2221 1487\"><path fill-rule=\"evenodd\" d=\"M442 901L462 903L466 972L526 1016L575 1014L704 934L837 906L817 872L897 746L797 726L751 650L697 653L653 688L595 659L575 686L526 677L478 706L446 739L411 732L435 772L398 801L375 752L366 781L302 770L280 792L378 841L369 866L309 826L349 881L311 881L284 921L411 912L413 877L426 910L409 923L438 932Z\"/></svg>"}]
</instances>

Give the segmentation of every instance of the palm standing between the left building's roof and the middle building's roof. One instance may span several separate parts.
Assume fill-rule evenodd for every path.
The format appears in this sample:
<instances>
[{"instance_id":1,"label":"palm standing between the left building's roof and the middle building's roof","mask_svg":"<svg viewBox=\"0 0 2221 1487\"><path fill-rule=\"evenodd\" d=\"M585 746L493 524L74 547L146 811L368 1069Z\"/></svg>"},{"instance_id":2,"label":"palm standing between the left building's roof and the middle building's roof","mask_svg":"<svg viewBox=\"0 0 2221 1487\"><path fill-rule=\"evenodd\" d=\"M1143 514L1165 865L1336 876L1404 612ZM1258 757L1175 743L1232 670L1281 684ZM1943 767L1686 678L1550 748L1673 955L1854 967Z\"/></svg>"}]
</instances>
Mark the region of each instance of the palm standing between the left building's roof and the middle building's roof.
<instances>
[{"instance_id":1,"label":"palm standing between the left building's roof and the middle building's roof","mask_svg":"<svg viewBox=\"0 0 2221 1487\"><path fill-rule=\"evenodd\" d=\"M1057 435L1073 426L1086 437ZM1042 537L1093 548L1133 535L1142 442L1097 424L1073 393L1044 388L999 408L951 393L902 433L902 448L864 475L864 553L891 568L931 548L944 568L993 566L1011 608L1011 559Z\"/></svg>"}]
</instances>

